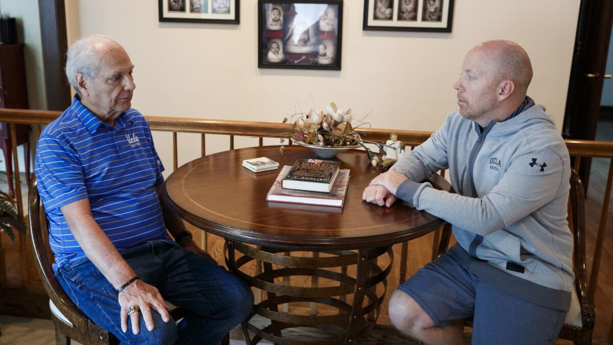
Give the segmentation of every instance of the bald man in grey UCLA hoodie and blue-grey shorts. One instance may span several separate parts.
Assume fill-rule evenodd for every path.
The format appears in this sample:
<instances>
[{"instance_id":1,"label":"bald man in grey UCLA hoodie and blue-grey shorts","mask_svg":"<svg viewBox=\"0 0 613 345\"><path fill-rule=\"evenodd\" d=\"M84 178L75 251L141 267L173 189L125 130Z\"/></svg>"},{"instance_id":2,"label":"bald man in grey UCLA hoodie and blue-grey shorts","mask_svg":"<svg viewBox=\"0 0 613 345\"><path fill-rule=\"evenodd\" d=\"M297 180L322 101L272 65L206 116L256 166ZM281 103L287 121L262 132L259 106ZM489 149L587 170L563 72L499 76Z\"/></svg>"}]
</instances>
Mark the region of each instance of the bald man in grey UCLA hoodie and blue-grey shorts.
<instances>
[{"instance_id":1,"label":"bald man in grey UCLA hoodie and blue-grey shorts","mask_svg":"<svg viewBox=\"0 0 613 345\"><path fill-rule=\"evenodd\" d=\"M370 183L365 201L408 201L452 223L457 244L401 284L394 325L428 344L554 344L573 289L566 222L570 165L544 107L526 96L527 53L508 41L472 48L455 82L459 110ZM457 194L419 183L449 169Z\"/></svg>"}]
</instances>

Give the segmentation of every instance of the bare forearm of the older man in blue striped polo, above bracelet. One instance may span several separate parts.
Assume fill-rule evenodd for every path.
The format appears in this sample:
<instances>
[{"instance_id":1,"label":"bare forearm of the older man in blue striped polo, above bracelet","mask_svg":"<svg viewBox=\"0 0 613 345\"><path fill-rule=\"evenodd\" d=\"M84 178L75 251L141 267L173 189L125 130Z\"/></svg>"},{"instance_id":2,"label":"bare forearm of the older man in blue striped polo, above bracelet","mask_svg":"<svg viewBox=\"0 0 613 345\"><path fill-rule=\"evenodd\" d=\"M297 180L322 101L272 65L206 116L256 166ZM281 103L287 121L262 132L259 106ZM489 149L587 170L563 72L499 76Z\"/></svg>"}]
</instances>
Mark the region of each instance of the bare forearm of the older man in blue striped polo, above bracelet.
<instances>
[{"instance_id":1,"label":"bare forearm of the older man in blue striped polo, above bracelet","mask_svg":"<svg viewBox=\"0 0 613 345\"><path fill-rule=\"evenodd\" d=\"M87 199L67 204L61 211L86 257L115 289L136 275L94 220Z\"/></svg>"}]
</instances>

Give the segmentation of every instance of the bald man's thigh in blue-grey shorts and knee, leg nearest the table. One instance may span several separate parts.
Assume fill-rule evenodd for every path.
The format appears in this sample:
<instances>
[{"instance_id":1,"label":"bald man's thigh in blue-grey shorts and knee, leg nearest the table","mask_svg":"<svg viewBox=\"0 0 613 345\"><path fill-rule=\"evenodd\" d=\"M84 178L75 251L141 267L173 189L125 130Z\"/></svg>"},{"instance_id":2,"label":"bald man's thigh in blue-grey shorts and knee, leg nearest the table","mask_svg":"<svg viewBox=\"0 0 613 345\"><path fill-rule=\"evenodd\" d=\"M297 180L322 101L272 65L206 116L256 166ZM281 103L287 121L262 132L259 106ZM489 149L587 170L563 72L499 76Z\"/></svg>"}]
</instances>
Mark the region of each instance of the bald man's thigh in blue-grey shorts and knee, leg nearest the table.
<instances>
[{"instance_id":1,"label":"bald man's thigh in blue-grey shorts and knee, leg nearest the table","mask_svg":"<svg viewBox=\"0 0 613 345\"><path fill-rule=\"evenodd\" d=\"M410 299L390 300L390 318L393 322L394 316L409 313L413 319L406 321L410 322L411 327L427 328L445 327L454 320L471 317L474 310L475 279L476 276L466 271L451 255L443 255L398 286L398 290ZM409 310L411 302L421 309ZM431 323L424 321L423 313L427 314Z\"/></svg>"}]
</instances>

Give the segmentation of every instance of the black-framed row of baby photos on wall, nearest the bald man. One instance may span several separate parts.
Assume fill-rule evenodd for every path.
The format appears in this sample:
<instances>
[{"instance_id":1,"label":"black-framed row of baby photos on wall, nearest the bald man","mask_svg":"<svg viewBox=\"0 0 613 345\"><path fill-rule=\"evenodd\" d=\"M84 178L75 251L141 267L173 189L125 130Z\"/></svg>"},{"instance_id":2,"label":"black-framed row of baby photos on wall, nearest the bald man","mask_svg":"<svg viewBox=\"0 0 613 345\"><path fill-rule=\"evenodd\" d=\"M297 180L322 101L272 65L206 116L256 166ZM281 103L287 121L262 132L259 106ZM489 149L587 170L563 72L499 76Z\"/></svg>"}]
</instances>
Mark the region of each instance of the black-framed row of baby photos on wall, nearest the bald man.
<instances>
[{"instance_id":1,"label":"black-framed row of baby photos on wall, nearest the bald man","mask_svg":"<svg viewBox=\"0 0 613 345\"><path fill-rule=\"evenodd\" d=\"M453 14L454 0L364 0L362 29L451 33Z\"/></svg>"}]
</instances>

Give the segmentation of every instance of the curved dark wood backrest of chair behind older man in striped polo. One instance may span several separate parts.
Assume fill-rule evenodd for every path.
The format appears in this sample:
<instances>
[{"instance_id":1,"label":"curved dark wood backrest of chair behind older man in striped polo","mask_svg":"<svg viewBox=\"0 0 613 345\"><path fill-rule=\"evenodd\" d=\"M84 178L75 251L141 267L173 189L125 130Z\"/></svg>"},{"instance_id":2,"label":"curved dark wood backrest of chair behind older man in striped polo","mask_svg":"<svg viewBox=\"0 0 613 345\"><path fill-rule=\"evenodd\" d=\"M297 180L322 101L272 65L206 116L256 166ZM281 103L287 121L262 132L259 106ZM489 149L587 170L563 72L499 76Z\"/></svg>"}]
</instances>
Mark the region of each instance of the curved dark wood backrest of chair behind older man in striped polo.
<instances>
[{"instance_id":1,"label":"curved dark wood backrest of chair behind older man in striped polo","mask_svg":"<svg viewBox=\"0 0 613 345\"><path fill-rule=\"evenodd\" d=\"M70 300L70 297L64 292L64 289L55 279L53 266L48 260L48 254L50 253L47 251L48 246L45 245L43 235L43 231L47 230L47 227L42 227L41 222L41 219L43 219L46 225L47 217L44 208L40 205L40 195L36 179L32 179L30 183L28 191L28 211L32 252L34 254L34 263L39 272L40 280L53 304L55 304L56 308L58 308L64 317L70 321L72 327L65 324L58 324L58 322L54 322L54 324L56 327L62 328L64 333L69 334L70 338L82 344L90 344L91 341L89 339L91 339L92 336L101 341L101 343L108 343L108 333L89 321L81 309Z\"/></svg>"}]
</instances>

